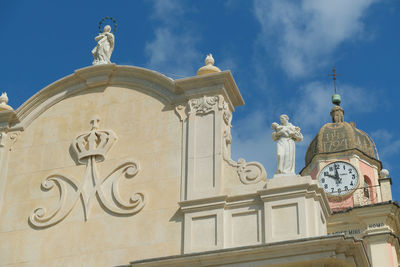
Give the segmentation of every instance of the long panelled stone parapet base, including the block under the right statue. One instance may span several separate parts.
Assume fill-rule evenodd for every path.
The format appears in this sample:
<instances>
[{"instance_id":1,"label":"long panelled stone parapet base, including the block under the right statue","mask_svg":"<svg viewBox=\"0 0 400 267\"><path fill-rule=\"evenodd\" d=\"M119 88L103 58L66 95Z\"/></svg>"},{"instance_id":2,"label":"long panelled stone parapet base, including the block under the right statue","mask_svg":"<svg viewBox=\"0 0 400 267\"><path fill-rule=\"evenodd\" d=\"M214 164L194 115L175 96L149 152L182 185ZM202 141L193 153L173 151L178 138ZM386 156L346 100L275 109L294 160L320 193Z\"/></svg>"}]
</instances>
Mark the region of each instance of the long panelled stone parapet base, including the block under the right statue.
<instances>
[{"instance_id":1,"label":"long panelled stone parapet base, including the block under the right statue","mask_svg":"<svg viewBox=\"0 0 400 267\"><path fill-rule=\"evenodd\" d=\"M328 199L310 176L267 179L265 188L179 202L184 253L327 234Z\"/></svg>"}]
</instances>

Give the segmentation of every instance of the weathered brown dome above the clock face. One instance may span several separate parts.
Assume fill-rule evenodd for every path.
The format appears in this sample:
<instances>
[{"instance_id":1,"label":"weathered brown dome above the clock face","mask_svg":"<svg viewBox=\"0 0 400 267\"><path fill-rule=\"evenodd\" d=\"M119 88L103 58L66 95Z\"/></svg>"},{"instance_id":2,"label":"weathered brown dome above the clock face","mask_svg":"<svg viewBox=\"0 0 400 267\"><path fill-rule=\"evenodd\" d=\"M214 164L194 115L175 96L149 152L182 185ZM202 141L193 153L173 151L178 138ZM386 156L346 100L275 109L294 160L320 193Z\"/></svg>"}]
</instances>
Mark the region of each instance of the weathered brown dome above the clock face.
<instances>
[{"instance_id":1,"label":"weathered brown dome above the clock face","mask_svg":"<svg viewBox=\"0 0 400 267\"><path fill-rule=\"evenodd\" d=\"M344 111L334 106L331 111L332 123L321 130L308 145L305 166L318 154L335 153L357 149L370 158L377 159L376 147L371 137L357 129L354 123L344 121Z\"/></svg>"}]
</instances>

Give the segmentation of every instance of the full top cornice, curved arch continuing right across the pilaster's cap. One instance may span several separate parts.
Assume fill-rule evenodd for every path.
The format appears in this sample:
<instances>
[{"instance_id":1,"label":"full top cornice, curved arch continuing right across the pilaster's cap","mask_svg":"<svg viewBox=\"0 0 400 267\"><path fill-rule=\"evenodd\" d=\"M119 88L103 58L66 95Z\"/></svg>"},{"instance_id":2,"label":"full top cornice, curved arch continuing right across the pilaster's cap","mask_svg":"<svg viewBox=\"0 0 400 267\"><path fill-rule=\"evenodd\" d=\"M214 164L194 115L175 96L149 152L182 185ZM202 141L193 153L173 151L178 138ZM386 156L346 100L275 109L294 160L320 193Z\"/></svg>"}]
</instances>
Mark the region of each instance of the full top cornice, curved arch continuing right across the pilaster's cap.
<instances>
[{"instance_id":1,"label":"full top cornice, curved arch continuing right across the pilaster's cap","mask_svg":"<svg viewBox=\"0 0 400 267\"><path fill-rule=\"evenodd\" d=\"M135 88L157 97L165 105L187 101L191 96L220 91L231 99L229 106L244 104L230 71L173 80L159 72L134 66L104 64L76 70L43 88L16 110L11 129L24 129L56 103L78 93L108 86ZM195 90L203 88L202 90ZM204 90L206 89L206 90Z\"/></svg>"}]
</instances>

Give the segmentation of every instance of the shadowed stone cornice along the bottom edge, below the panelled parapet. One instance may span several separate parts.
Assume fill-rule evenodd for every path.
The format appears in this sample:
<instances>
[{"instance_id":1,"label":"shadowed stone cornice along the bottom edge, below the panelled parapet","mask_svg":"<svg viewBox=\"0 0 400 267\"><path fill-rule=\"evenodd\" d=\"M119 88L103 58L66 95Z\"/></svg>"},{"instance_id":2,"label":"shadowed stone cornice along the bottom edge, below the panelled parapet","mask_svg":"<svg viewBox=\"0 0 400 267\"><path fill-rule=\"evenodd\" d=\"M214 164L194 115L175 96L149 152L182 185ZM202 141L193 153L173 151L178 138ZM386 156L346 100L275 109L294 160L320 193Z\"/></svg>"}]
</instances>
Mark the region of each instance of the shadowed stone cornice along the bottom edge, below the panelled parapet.
<instances>
[{"instance_id":1,"label":"shadowed stone cornice along the bottom edge, below the panelled parapet","mask_svg":"<svg viewBox=\"0 0 400 267\"><path fill-rule=\"evenodd\" d=\"M145 259L133 261L127 266L244 266L249 262L264 266L280 258L285 259L288 265L301 265L303 262L301 266L306 266L305 259L298 257L304 255L305 251L309 259L319 263L344 265L346 258L351 257L357 266L371 266L362 240L335 235Z\"/></svg>"}]
</instances>

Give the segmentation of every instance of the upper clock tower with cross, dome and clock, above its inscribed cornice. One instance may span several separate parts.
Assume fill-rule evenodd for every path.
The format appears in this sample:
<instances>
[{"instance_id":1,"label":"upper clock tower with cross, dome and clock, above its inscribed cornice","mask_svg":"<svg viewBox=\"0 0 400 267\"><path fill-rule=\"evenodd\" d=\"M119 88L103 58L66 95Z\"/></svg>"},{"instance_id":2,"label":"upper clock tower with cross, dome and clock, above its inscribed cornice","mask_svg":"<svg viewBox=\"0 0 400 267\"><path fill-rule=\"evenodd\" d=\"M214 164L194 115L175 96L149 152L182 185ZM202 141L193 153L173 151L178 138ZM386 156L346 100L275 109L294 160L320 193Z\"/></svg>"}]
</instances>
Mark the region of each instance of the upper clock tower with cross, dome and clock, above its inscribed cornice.
<instances>
[{"instance_id":1,"label":"upper clock tower with cross, dome and clock, above its inscribed cornice","mask_svg":"<svg viewBox=\"0 0 400 267\"><path fill-rule=\"evenodd\" d=\"M390 186L380 186L387 171L381 174L382 163L375 144L354 122L345 121L341 98L336 93L335 69L332 76L332 122L323 125L309 144L301 175L318 181L328 195L332 211L391 200Z\"/></svg>"}]
</instances>

